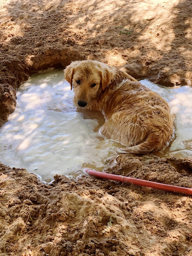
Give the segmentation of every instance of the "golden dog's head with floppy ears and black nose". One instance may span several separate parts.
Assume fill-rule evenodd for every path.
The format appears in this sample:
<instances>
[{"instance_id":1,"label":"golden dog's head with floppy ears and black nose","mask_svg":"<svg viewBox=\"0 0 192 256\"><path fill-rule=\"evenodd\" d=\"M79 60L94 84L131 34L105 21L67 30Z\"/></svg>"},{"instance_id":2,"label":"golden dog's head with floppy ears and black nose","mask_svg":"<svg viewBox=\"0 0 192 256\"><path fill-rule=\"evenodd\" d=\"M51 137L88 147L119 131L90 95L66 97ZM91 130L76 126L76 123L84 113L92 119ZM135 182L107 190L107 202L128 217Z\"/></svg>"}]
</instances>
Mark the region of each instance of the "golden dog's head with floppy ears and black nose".
<instances>
[{"instance_id":1,"label":"golden dog's head with floppy ears and black nose","mask_svg":"<svg viewBox=\"0 0 192 256\"><path fill-rule=\"evenodd\" d=\"M98 61L74 61L64 70L65 79L74 88L74 103L89 108L91 102L111 83L115 68Z\"/></svg>"}]
</instances>

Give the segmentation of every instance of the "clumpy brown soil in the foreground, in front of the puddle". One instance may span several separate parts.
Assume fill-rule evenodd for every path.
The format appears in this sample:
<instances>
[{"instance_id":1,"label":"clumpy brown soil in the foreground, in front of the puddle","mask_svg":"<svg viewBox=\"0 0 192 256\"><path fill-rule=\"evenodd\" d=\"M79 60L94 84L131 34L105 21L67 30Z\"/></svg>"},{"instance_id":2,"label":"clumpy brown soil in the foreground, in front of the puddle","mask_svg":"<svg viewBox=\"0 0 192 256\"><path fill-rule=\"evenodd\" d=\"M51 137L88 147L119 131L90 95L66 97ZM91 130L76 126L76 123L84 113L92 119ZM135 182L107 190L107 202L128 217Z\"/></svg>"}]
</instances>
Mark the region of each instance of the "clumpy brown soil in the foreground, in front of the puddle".
<instances>
[{"instance_id":1,"label":"clumpy brown soil in the foreground, in front of the puddle","mask_svg":"<svg viewBox=\"0 0 192 256\"><path fill-rule=\"evenodd\" d=\"M192 160L119 155L107 172L190 187ZM170 163L180 170L180 173ZM177 162L177 163L176 163ZM0 166L2 255L191 255L189 195Z\"/></svg>"}]
</instances>

